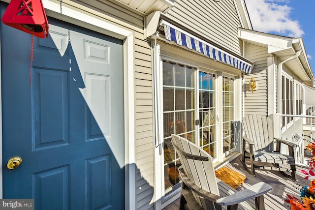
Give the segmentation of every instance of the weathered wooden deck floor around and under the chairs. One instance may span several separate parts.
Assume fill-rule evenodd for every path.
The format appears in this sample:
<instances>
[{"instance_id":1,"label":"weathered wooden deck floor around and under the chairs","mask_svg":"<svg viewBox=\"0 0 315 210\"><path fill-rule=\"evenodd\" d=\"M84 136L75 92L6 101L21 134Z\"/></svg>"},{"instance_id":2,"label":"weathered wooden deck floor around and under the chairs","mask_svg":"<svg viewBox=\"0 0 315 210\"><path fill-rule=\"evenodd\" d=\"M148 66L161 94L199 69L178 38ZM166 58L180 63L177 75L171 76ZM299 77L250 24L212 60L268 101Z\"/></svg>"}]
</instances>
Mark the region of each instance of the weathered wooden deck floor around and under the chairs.
<instances>
[{"instance_id":1,"label":"weathered wooden deck floor around and under the chairs","mask_svg":"<svg viewBox=\"0 0 315 210\"><path fill-rule=\"evenodd\" d=\"M299 198L300 188L302 186L309 186L310 184L309 180L304 179L306 175L301 172L301 169L309 170L308 167L297 166L298 181L286 178L283 174L277 171L256 171L256 177L253 177L244 169L238 157L225 165L225 167L243 173L246 176L247 179L245 180L245 183L243 183L238 190L247 188L259 181L264 181L273 187L272 191L264 195L266 210L289 210L289 205L284 201L287 198L286 194ZM163 210L178 209L179 199L165 207Z\"/></svg>"}]
</instances>

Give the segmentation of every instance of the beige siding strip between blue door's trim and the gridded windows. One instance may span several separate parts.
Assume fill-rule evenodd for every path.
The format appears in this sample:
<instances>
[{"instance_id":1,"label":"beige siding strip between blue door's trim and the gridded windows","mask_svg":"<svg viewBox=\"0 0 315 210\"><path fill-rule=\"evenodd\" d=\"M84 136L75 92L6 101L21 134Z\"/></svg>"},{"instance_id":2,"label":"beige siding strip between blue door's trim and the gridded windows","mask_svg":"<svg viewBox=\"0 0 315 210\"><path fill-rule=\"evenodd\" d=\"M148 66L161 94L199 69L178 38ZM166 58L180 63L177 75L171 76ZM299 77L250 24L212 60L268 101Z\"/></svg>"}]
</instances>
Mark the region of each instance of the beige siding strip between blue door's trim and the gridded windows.
<instances>
[{"instance_id":1,"label":"beige siding strip between blue door's trim and the gridded windows","mask_svg":"<svg viewBox=\"0 0 315 210\"><path fill-rule=\"evenodd\" d=\"M154 209L153 84L151 42L144 39L144 15L110 0L74 0L76 8L134 31L136 207ZM123 85L123 84L122 84ZM133 187L133 186L130 186Z\"/></svg>"}]
</instances>

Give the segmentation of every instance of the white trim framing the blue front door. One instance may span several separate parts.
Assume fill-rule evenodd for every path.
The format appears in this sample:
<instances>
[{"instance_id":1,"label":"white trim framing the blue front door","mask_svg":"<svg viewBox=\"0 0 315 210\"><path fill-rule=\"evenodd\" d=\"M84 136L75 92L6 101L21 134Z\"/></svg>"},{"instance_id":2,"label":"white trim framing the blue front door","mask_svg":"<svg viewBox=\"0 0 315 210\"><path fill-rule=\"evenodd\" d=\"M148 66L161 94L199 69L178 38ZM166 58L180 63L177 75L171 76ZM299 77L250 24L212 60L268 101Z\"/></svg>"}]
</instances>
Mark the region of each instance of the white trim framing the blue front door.
<instances>
[{"instance_id":1,"label":"white trim framing the blue front door","mask_svg":"<svg viewBox=\"0 0 315 210\"><path fill-rule=\"evenodd\" d=\"M1 0L9 2L10 0ZM46 15L66 21L77 26L95 30L97 32L110 35L124 41L124 110L125 110L125 209L136 209L136 173L135 173L135 94L134 94L134 31L117 26L105 19L95 18L83 13L80 9L74 10L63 4L62 14L60 13L60 3L51 0L42 0ZM73 7L74 8L74 7ZM0 45L1 48L1 45ZM1 57L0 57L1 58ZM1 64L1 60L0 60ZM1 70L1 69L0 69ZM1 77L1 76L0 76ZM1 79L1 78L0 78ZM1 80L0 80L1 90ZM0 91L1 96L1 91ZM2 96L0 102L2 101ZM1 103L0 110L2 111ZM0 112L0 119L2 119ZM0 160L2 163L2 120L0 122ZM5 166L4 166L5 167ZM3 166L0 166L0 198L3 197L2 185Z\"/></svg>"}]
</instances>

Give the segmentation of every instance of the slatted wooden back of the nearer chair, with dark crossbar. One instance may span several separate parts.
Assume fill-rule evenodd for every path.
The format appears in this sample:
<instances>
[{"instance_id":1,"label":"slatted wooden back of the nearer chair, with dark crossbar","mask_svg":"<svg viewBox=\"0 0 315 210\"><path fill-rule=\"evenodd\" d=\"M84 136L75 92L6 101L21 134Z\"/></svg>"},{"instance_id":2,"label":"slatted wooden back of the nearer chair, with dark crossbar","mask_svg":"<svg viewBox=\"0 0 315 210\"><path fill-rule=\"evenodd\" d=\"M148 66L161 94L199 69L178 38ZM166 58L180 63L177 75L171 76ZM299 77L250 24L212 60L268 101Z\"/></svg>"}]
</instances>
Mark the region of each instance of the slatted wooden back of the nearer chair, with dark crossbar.
<instances>
[{"instance_id":1,"label":"slatted wooden back of the nearer chair, with dark crossbar","mask_svg":"<svg viewBox=\"0 0 315 210\"><path fill-rule=\"evenodd\" d=\"M213 167L213 158L204 150L199 149L195 144L189 142L187 139L172 134L172 144L178 151L184 172L186 176L202 189L216 195L220 195L216 180L216 174ZM208 160L196 160L187 158L182 152L196 155L199 157L206 157ZM203 208L206 207L204 199L200 199L195 193L196 201Z\"/></svg>"}]
</instances>

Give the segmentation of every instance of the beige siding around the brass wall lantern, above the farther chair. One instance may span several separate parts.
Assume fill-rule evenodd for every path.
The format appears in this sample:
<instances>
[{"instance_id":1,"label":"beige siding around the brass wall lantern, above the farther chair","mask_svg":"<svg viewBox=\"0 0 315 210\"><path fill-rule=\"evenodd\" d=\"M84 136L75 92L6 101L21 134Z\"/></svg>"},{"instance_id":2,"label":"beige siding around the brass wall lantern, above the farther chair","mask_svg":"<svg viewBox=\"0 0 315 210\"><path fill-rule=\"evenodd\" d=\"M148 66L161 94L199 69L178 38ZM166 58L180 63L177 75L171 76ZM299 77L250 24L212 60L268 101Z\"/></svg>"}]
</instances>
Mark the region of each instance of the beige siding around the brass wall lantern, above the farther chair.
<instances>
[{"instance_id":1,"label":"beige siding around the brass wall lantern, above the farther chair","mask_svg":"<svg viewBox=\"0 0 315 210\"><path fill-rule=\"evenodd\" d=\"M245 115L268 115L267 100L267 48L245 43L245 57L255 65L251 74L245 75ZM258 90L252 93L249 81L251 78L258 83Z\"/></svg>"}]
</instances>

